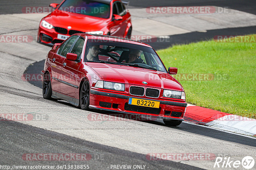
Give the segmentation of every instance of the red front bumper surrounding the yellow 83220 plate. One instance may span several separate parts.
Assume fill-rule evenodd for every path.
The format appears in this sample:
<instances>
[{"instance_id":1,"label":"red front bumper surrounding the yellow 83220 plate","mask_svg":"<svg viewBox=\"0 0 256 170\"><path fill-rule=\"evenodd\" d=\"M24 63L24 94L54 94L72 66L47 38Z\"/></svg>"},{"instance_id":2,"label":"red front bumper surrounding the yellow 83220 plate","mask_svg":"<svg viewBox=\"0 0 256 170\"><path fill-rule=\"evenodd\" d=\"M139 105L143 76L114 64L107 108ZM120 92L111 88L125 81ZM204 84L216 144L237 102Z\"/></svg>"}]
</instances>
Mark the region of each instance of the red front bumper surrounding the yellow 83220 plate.
<instances>
[{"instance_id":1,"label":"red front bumper surrounding the yellow 83220 plate","mask_svg":"<svg viewBox=\"0 0 256 170\"><path fill-rule=\"evenodd\" d=\"M142 106L135 106L128 104L129 97L159 101L160 106L157 108L149 108ZM130 96L126 94L109 93L90 89L90 109L99 109L106 111L115 111L119 113L129 113L147 117L156 117L173 120L184 120L186 102L156 100L151 98L143 98L137 96Z\"/></svg>"}]
</instances>

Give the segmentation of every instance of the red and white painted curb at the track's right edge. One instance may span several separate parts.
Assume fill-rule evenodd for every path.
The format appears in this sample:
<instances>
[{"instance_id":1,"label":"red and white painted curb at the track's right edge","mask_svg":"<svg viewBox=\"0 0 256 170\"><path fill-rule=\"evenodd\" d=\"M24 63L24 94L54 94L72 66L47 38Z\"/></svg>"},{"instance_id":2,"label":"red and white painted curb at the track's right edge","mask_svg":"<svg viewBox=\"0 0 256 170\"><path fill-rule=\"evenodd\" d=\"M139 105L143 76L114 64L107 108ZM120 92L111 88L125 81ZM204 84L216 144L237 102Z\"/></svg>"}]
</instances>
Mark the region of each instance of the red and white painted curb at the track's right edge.
<instances>
[{"instance_id":1,"label":"red and white painted curb at the track's right edge","mask_svg":"<svg viewBox=\"0 0 256 170\"><path fill-rule=\"evenodd\" d=\"M256 119L188 104L184 120L215 129L256 137Z\"/></svg>"}]
</instances>

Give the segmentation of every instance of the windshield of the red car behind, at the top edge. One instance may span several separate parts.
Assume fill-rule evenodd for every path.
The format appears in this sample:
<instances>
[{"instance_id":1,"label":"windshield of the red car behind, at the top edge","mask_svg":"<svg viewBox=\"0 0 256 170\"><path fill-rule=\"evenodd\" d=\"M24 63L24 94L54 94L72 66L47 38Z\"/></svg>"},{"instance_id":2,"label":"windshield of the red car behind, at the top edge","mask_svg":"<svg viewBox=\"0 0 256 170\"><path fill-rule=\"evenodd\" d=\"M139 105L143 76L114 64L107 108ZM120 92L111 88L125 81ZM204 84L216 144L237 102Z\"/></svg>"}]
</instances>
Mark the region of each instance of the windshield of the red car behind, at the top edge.
<instances>
[{"instance_id":1,"label":"windshield of the red car behind, at the top edge","mask_svg":"<svg viewBox=\"0 0 256 170\"><path fill-rule=\"evenodd\" d=\"M66 0L58 10L100 18L109 18L110 15L109 4L90 0Z\"/></svg>"}]
</instances>

